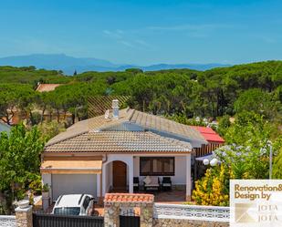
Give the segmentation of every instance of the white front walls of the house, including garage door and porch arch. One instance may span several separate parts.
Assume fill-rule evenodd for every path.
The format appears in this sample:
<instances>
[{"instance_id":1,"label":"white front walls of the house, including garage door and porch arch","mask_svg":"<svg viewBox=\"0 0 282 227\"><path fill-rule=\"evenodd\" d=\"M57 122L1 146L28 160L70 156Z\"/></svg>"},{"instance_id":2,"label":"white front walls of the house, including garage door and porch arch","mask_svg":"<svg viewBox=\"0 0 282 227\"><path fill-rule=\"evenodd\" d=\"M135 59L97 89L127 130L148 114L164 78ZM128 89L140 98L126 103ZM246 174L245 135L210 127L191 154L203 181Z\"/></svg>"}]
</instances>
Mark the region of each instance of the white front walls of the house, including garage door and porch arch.
<instances>
[{"instance_id":1,"label":"white front walls of the house, including garage door and porch arch","mask_svg":"<svg viewBox=\"0 0 282 227\"><path fill-rule=\"evenodd\" d=\"M108 154L102 164L101 174L42 174L42 181L50 187L50 197L56 200L58 193L89 193L95 197L103 197L112 188L112 163L120 160L127 165L127 185L133 192L133 177L139 177L140 183L145 178L140 176L140 157L174 157L174 176L172 185L186 185L186 196L191 197L191 154L158 155L158 154ZM81 176L82 175L82 176ZM83 176L84 175L84 176ZM90 176L91 175L91 176ZM162 176L160 176L162 181ZM187 183L188 182L188 183ZM102 186L100 185L102 183Z\"/></svg>"}]
</instances>

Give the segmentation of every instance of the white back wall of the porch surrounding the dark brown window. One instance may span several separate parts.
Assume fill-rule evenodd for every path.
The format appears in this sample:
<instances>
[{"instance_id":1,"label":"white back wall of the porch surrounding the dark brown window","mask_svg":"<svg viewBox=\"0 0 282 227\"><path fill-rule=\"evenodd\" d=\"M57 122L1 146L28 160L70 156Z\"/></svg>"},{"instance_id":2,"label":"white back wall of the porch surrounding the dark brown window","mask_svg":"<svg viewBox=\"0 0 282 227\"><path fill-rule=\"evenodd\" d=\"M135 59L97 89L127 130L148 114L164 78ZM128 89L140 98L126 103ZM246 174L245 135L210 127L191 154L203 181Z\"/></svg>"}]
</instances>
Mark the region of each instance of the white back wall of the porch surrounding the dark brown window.
<instances>
[{"instance_id":1,"label":"white back wall of the porch surrounding the dark brown window","mask_svg":"<svg viewBox=\"0 0 282 227\"><path fill-rule=\"evenodd\" d=\"M154 155L156 157L156 155ZM163 156L162 156L163 157ZM140 182L144 179L144 176L140 176L140 157L133 158L134 163L134 177L140 177ZM172 179L172 184L174 185L184 185L186 184L186 156L175 156L175 175L169 176ZM160 177L162 181L162 177Z\"/></svg>"}]
</instances>

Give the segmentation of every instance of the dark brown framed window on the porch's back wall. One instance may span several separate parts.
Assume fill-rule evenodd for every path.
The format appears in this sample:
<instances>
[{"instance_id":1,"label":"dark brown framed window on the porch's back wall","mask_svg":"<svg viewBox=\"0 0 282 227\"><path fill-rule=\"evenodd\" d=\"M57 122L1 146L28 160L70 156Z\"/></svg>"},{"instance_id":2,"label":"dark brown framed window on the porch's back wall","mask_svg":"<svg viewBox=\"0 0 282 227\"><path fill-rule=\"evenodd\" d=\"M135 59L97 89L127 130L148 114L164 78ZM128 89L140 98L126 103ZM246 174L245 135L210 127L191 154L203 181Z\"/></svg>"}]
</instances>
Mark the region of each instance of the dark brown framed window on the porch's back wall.
<instances>
[{"instance_id":1,"label":"dark brown framed window on the porch's back wall","mask_svg":"<svg viewBox=\"0 0 282 227\"><path fill-rule=\"evenodd\" d=\"M141 157L141 176L174 176L173 157Z\"/></svg>"}]
</instances>

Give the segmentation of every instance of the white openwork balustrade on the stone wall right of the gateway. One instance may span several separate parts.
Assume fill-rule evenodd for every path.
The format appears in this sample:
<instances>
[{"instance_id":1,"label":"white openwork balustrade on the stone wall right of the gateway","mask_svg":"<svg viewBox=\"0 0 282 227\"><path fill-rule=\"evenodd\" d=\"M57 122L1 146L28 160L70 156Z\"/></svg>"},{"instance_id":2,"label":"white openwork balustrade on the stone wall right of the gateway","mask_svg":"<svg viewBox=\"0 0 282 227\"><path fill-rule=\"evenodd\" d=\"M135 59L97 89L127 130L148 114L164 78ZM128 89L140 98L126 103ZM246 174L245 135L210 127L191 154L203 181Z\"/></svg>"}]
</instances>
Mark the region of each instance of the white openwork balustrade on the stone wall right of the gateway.
<instances>
[{"instance_id":1,"label":"white openwork balustrade on the stone wall right of the gateway","mask_svg":"<svg viewBox=\"0 0 282 227\"><path fill-rule=\"evenodd\" d=\"M229 222L230 212L229 207L155 203L153 216L157 219Z\"/></svg>"}]
</instances>

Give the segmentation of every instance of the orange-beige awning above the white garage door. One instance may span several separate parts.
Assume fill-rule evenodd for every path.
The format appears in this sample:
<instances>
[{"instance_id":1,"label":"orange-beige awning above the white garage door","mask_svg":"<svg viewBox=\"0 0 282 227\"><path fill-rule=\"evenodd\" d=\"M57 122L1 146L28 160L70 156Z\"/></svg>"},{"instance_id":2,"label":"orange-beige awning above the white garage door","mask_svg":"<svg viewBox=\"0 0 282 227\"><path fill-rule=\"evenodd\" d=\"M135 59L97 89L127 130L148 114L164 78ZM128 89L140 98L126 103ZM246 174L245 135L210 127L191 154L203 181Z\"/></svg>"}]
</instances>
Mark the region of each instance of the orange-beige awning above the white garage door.
<instances>
[{"instance_id":1,"label":"orange-beige awning above the white garage door","mask_svg":"<svg viewBox=\"0 0 282 227\"><path fill-rule=\"evenodd\" d=\"M86 174L101 173L102 160L44 160L41 173Z\"/></svg>"}]
</instances>

